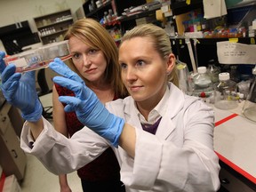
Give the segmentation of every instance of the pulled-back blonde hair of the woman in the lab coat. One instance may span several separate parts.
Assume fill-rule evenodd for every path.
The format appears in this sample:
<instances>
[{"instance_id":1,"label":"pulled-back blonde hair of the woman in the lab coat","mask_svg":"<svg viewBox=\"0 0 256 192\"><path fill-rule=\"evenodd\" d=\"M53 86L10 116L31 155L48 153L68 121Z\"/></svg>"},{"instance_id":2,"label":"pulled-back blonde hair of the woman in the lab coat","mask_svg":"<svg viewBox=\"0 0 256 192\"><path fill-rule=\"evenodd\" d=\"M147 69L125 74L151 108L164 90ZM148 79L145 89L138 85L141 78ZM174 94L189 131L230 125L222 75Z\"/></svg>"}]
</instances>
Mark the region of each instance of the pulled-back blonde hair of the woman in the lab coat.
<instances>
[{"instance_id":1,"label":"pulled-back blonde hair of the woman in the lab coat","mask_svg":"<svg viewBox=\"0 0 256 192\"><path fill-rule=\"evenodd\" d=\"M134 37L150 38L153 42L153 46L156 52L158 52L163 59L165 56L168 56L172 53L172 46L169 36L163 28L160 28L154 24L143 24L132 28L132 30L124 34L121 45L124 41L130 40ZM173 68L172 73L168 76L168 81L171 81L176 86L179 86L176 66Z\"/></svg>"}]
</instances>

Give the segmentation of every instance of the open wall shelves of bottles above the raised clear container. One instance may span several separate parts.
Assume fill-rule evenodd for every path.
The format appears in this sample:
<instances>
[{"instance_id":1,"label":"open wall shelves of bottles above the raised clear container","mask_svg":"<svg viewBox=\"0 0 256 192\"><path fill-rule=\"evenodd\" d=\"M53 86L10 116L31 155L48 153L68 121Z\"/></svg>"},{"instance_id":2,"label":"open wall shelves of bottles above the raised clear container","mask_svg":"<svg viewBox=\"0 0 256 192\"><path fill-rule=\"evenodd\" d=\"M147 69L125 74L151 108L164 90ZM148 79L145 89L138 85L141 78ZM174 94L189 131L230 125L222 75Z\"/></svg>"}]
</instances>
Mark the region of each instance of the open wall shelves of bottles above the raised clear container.
<instances>
[{"instance_id":1,"label":"open wall shelves of bottles above the raised clear container","mask_svg":"<svg viewBox=\"0 0 256 192\"><path fill-rule=\"evenodd\" d=\"M36 17L34 20L43 44L62 41L69 26L74 22L70 10L53 12Z\"/></svg>"}]
</instances>

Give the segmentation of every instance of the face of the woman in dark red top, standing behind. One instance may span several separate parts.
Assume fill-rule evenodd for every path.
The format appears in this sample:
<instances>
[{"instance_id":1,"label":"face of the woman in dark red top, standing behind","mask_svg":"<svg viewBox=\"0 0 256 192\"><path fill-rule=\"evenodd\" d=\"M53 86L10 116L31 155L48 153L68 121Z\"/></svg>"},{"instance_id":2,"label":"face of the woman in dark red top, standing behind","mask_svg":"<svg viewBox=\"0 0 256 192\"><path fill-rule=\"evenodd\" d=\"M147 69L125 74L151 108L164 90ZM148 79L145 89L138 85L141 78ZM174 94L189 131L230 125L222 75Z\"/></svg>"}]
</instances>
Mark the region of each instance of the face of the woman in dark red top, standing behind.
<instances>
[{"instance_id":1,"label":"face of the woman in dark red top, standing behind","mask_svg":"<svg viewBox=\"0 0 256 192\"><path fill-rule=\"evenodd\" d=\"M103 79L104 71L107 68L107 60L101 50L93 49L84 44L76 36L68 40L72 60L85 79L89 82L98 82Z\"/></svg>"}]
</instances>

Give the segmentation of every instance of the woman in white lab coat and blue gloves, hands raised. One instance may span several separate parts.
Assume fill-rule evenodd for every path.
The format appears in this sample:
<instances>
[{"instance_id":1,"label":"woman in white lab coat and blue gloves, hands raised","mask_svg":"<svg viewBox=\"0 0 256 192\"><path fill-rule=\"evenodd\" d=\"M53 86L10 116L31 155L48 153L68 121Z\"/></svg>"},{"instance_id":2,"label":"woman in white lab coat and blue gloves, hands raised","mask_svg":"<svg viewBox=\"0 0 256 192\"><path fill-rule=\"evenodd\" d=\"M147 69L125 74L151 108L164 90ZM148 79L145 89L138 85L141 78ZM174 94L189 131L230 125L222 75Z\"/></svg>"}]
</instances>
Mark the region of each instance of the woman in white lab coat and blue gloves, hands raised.
<instances>
[{"instance_id":1,"label":"woman in white lab coat and blue gloves, hands raised","mask_svg":"<svg viewBox=\"0 0 256 192\"><path fill-rule=\"evenodd\" d=\"M25 108L22 96L12 96L31 91L32 85L21 86L22 77L7 67L2 74L4 96L27 119L21 148L60 174L91 162L111 145L116 147L126 191L217 191L220 166L213 150L213 111L168 83L175 58L164 30L148 24L126 33L119 63L131 96L109 102L108 110L61 60L50 64L64 76L53 81L76 94L60 97L67 104L65 110L76 110L87 126L71 139L56 132L37 105Z\"/></svg>"}]
</instances>

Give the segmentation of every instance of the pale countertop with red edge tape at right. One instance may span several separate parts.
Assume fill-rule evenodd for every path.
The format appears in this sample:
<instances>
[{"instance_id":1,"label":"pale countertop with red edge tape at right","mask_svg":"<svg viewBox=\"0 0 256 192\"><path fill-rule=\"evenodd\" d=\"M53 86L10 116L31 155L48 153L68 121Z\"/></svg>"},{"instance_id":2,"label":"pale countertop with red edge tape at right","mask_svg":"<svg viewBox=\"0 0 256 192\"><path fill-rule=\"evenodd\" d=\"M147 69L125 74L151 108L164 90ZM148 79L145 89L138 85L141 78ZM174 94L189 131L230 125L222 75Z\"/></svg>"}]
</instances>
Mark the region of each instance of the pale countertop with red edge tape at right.
<instances>
[{"instance_id":1,"label":"pale countertop with red edge tape at right","mask_svg":"<svg viewBox=\"0 0 256 192\"><path fill-rule=\"evenodd\" d=\"M214 150L220 160L256 184L256 123L242 113L244 101L237 108L215 112Z\"/></svg>"}]
</instances>

